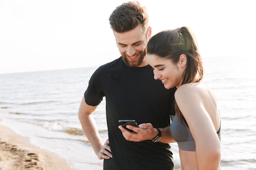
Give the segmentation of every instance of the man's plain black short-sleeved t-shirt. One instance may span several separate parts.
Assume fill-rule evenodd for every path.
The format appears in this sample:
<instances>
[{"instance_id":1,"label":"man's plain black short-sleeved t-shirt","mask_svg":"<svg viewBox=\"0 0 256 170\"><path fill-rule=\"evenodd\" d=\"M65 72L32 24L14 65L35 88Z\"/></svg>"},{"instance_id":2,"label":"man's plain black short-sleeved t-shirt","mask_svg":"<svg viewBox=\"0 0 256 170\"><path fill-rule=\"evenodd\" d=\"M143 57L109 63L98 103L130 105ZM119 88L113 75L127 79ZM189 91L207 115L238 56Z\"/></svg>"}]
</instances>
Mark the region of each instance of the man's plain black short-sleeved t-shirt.
<instances>
[{"instance_id":1,"label":"man's plain black short-sleeved t-shirt","mask_svg":"<svg viewBox=\"0 0 256 170\"><path fill-rule=\"evenodd\" d=\"M130 68L120 57L100 66L92 75L85 102L97 106L106 97L106 117L112 158L105 159L104 170L172 170L171 146L145 140L127 141L118 128L119 119L151 123L155 128L170 126L175 115L174 92L154 79L151 66ZM107 168L107 167L115 168Z\"/></svg>"}]
</instances>

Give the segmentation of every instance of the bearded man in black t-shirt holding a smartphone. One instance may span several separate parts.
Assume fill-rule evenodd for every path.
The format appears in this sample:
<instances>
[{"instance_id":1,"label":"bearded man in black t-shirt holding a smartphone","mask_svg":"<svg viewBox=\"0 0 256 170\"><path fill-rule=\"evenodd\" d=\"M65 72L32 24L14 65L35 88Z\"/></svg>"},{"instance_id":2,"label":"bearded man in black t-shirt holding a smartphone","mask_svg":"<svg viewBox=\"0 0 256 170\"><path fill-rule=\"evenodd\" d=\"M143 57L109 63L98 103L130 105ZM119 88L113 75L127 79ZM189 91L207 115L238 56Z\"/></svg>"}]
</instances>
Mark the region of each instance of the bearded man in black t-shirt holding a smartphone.
<instances>
[{"instance_id":1,"label":"bearded man in black t-shirt holding a smartphone","mask_svg":"<svg viewBox=\"0 0 256 170\"><path fill-rule=\"evenodd\" d=\"M169 126L176 88L167 90L156 81L145 60L151 36L146 8L136 1L123 3L109 21L121 57L100 66L90 78L79 108L83 132L98 158L104 159L104 170L173 170L168 143L174 142ZM92 117L104 96L109 138L105 144ZM126 127L137 133L119 126L119 119L135 119L139 128Z\"/></svg>"}]
</instances>

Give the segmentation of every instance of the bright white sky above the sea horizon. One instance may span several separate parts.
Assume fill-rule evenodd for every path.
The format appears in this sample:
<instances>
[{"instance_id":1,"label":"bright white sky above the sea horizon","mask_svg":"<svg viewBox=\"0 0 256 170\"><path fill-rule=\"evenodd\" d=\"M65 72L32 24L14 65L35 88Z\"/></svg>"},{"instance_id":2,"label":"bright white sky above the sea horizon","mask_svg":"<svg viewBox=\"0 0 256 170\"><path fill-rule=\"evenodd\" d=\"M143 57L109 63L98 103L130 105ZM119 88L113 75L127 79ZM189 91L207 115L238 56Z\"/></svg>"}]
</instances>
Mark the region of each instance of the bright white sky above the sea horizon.
<instances>
[{"instance_id":1,"label":"bright white sky above the sea horizon","mask_svg":"<svg viewBox=\"0 0 256 170\"><path fill-rule=\"evenodd\" d=\"M116 59L108 17L122 2L0 0L0 74L100 66ZM253 0L139 2L148 9L153 34L189 26L203 57L256 57Z\"/></svg>"}]
</instances>

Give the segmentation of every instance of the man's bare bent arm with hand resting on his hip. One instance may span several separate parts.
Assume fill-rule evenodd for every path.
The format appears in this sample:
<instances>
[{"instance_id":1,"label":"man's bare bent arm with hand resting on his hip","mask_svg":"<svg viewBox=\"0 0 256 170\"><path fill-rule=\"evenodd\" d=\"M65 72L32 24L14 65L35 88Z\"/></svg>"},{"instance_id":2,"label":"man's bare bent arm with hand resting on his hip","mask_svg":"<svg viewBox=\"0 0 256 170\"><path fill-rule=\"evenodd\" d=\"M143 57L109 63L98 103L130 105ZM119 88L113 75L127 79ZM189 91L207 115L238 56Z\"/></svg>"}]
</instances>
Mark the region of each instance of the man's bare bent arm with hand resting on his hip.
<instances>
[{"instance_id":1,"label":"man's bare bent arm with hand resting on his hip","mask_svg":"<svg viewBox=\"0 0 256 170\"><path fill-rule=\"evenodd\" d=\"M99 136L99 132L97 129L97 125L94 121L94 118L92 116L92 113L97 108L97 106L90 106L85 103L85 98L83 97L79 111L78 111L78 117L79 121L81 123L83 133L89 140L90 144L92 145L92 148L95 152L95 154L98 156L99 159L109 159L112 157L110 146L108 139L103 145L103 142L101 141L101 138ZM108 150L110 152L108 152Z\"/></svg>"}]
</instances>

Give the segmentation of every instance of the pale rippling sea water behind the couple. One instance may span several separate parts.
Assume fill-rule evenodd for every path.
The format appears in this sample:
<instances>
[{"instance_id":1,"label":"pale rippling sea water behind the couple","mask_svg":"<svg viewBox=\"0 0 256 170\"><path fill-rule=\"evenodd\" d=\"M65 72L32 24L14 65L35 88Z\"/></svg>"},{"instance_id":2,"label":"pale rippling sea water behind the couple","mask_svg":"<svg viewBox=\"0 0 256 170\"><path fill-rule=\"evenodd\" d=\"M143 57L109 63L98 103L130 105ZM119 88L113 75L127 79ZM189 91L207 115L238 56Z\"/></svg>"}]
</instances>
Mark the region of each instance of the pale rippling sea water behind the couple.
<instances>
[{"instance_id":1,"label":"pale rippling sea water behind the couple","mask_svg":"<svg viewBox=\"0 0 256 170\"><path fill-rule=\"evenodd\" d=\"M78 110L97 67L0 74L0 124L31 144L64 157L77 170L102 170L83 135ZM222 170L256 170L256 69L246 57L204 58L204 82L222 117ZM153 77L152 77L153 78ZM108 139L105 99L93 113L103 142ZM171 144L180 170L177 144Z\"/></svg>"}]
</instances>

